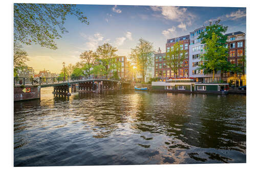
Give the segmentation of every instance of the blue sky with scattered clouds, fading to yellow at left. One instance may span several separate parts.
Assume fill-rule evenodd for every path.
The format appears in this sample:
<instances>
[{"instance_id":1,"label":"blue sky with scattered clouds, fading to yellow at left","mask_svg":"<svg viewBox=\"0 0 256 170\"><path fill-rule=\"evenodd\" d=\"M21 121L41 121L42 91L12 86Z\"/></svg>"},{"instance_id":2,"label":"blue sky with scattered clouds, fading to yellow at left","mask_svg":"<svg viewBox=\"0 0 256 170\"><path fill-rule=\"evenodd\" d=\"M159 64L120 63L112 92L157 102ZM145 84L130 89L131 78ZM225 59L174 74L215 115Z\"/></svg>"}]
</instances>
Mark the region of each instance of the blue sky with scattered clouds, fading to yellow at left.
<instances>
[{"instance_id":1,"label":"blue sky with scattered clouds, fading to yellow at left","mask_svg":"<svg viewBox=\"0 0 256 170\"><path fill-rule=\"evenodd\" d=\"M164 53L167 39L188 35L218 19L228 26L226 33L246 33L246 8L124 5L77 5L77 8L88 17L90 24L67 16L64 26L69 33L61 34L62 38L55 41L57 50L23 44L30 59L26 63L35 72L46 69L59 73L62 62L75 64L82 52L95 51L105 42L117 47L116 54L120 56L129 57L139 38L153 42L155 51L160 47Z\"/></svg>"}]
</instances>

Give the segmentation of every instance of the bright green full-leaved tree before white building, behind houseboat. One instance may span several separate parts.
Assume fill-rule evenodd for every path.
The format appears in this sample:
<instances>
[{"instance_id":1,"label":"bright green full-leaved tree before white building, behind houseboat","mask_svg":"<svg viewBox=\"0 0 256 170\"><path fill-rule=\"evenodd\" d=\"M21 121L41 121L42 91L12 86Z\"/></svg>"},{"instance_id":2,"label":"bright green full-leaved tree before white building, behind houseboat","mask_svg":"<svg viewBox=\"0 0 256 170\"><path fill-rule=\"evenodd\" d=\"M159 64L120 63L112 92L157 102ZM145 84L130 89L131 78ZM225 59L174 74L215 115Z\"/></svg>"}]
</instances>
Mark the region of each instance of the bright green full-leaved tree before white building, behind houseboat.
<instances>
[{"instance_id":1,"label":"bright green full-leaved tree before white building, behind houseboat","mask_svg":"<svg viewBox=\"0 0 256 170\"><path fill-rule=\"evenodd\" d=\"M212 72L212 81L215 78L215 72L221 70L224 64L227 63L227 48L218 45L218 37L215 33L212 36L205 39L204 50L206 53L202 55L202 61L200 69L204 69L204 74Z\"/></svg>"}]
</instances>

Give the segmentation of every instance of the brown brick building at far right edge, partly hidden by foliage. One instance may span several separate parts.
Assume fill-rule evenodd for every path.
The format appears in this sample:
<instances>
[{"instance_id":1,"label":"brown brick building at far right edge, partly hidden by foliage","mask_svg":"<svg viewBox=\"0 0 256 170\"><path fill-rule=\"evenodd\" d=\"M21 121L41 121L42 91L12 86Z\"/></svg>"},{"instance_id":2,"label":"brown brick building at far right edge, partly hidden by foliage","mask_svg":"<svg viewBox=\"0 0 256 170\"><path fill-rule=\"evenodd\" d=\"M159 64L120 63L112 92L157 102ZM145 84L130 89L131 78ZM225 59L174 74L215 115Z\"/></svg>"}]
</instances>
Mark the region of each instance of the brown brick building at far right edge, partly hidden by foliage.
<instances>
[{"instance_id":1,"label":"brown brick building at far right edge, partly hidden by foliage","mask_svg":"<svg viewBox=\"0 0 256 170\"><path fill-rule=\"evenodd\" d=\"M223 79L227 82L232 81L234 86L246 85L246 67L245 67L245 46L246 36L245 33L238 31L233 33L225 34L227 36L226 47L229 50L229 57L227 60L231 64L241 66L243 69L241 72L224 72ZM236 74L236 75L235 75Z\"/></svg>"}]
</instances>

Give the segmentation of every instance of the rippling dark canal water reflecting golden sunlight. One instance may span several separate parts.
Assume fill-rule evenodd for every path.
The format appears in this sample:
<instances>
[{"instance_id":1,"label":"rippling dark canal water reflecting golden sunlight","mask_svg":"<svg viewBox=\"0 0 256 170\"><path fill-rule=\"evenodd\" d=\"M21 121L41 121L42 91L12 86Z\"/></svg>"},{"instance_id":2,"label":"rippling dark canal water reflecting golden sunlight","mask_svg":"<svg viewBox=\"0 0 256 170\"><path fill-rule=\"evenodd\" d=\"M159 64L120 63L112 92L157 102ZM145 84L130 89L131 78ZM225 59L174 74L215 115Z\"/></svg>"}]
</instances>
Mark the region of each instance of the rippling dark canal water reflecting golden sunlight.
<instances>
[{"instance_id":1,"label":"rippling dark canal water reflecting golden sunlight","mask_svg":"<svg viewBox=\"0 0 256 170\"><path fill-rule=\"evenodd\" d=\"M14 103L14 166L246 162L246 95L52 91Z\"/></svg>"}]
</instances>

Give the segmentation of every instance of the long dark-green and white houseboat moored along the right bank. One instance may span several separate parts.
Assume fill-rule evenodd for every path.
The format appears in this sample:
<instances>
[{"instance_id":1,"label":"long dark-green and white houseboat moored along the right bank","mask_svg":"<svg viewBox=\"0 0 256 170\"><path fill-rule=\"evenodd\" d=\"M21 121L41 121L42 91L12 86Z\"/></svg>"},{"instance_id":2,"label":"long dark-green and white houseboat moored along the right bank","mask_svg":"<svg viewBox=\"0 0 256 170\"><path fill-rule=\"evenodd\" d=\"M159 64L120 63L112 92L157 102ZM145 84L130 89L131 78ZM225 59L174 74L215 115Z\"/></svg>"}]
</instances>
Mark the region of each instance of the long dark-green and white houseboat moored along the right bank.
<instances>
[{"instance_id":1,"label":"long dark-green and white houseboat moored along the right bank","mask_svg":"<svg viewBox=\"0 0 256 170\"><path fill-rule=\"evenodd\" d=\"M229 85L227 83L194 82L194 79L169 79L165 82L152 82L152 90L227 94L229 90Z\"/></svg>"}]
</instances>

